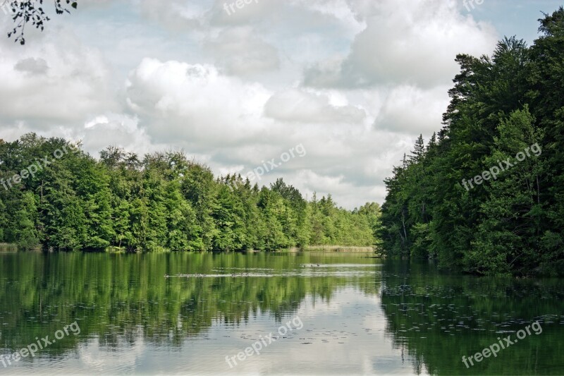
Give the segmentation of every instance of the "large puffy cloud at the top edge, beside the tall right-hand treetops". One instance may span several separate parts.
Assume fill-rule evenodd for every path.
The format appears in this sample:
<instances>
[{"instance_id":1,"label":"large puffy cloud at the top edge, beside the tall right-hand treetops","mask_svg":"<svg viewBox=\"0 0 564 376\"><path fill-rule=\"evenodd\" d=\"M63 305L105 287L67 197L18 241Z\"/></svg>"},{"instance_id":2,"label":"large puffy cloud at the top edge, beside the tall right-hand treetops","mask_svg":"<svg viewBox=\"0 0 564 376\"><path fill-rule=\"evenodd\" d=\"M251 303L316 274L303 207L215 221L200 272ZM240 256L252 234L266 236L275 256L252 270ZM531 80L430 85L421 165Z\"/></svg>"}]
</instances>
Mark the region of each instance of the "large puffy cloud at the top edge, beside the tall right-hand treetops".
<instances>
[{"instance_id":1,"label":"large puffy cloud at the top edge, beside the tall right-hand treetops","mask_svg":"<svg viewBox=\"0 0 564 376\"><path fill-rule=\"evenodd\" d=\"M489 53L497 40L489 25L460 15L454 0L378 1L365 19L348 56L307 68L305 85L445 85L458 72L456 54Z\"/></svg>"}]
</instances>

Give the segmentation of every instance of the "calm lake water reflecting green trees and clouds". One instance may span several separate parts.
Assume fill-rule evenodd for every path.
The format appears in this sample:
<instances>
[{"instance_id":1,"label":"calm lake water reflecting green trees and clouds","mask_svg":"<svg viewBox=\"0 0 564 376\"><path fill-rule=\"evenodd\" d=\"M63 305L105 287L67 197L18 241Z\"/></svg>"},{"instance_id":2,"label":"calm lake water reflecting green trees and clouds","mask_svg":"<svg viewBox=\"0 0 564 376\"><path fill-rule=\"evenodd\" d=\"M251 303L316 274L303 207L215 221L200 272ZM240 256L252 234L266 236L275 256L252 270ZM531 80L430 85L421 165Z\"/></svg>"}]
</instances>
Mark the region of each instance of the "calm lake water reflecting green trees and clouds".
<instances>
[{"instance_id":1,"label":"calm lake water reflecting green trees and clouds","mask_svg":"<svg viewBox=\"0 0 564 376\"><path fill-rule=\"evenodd\" d=\"M369 256L0 254L0 374L564 374L563 280Z\"/></svg>"}]
</instances>

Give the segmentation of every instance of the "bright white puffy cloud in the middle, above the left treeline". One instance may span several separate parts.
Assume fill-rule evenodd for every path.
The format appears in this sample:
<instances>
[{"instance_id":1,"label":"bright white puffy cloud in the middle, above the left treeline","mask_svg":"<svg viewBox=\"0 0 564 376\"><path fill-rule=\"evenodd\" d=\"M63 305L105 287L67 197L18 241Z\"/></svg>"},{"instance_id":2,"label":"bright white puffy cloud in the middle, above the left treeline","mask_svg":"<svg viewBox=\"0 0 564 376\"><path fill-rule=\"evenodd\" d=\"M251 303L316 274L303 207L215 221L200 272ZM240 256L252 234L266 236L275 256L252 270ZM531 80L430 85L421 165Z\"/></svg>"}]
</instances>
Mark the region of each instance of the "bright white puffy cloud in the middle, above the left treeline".
<instances>
[{"instance_id":1,"label":"bright white puffy cloud in the middle, above the left treeline","mask_svg":"<svg viewBox=\"0 0 564 376\"><path fill-rule=\"evenodd\" d=\"M129 75L127 101L158 142L240 145L265 131L259 122L270 92L206 64L143 61Z\"/></svg>"}]
</instances>

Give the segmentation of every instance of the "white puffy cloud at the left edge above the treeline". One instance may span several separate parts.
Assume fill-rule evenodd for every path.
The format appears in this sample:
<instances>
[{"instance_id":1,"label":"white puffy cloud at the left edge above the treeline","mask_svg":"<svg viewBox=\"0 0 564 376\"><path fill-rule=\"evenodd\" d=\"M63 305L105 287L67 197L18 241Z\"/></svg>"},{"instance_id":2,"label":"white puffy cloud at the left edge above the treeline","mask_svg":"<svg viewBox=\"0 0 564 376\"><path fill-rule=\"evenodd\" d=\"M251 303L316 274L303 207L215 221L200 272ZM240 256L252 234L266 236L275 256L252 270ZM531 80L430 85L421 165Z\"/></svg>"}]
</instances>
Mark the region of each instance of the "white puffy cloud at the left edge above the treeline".
<instances>
[{"instance_id":1,"label":"white puffy cloud at the left edge above the treeline","mask_svg":"<svg viewBox=\"0 0 564 376\"><path fill-rule=\"evenodd\" d=\"M10 48L0 43L1 123L32 122L39 128L81 121L115 109L109 71L99 51L72 36Z\"/></svg>"}]
</instances>

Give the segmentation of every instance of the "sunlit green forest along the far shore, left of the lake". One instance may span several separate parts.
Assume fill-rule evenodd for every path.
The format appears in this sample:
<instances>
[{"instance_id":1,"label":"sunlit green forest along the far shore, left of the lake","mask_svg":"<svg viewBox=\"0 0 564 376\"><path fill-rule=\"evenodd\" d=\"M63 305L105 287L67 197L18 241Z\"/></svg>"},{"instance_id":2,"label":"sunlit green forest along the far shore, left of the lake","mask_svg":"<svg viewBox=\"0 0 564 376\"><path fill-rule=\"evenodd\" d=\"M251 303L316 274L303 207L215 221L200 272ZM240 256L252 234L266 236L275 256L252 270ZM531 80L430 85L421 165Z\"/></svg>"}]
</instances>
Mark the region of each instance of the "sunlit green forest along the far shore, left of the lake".
<instances>
[{"instance_id":1,"label":"sunlit green forest along the far shore, left of the lake","mask_svg":"<svg viewBox=\"0 0 564 376\"><path fill-rule=\"evenodd\" d=\"M182 151L141 159L107 147L94 158L80 144L28 133L0 140L0 170L0 242L20 249L372 246L379 228L376 203L350 211L331 195L308 201L282 179L259 187L240 175L214 177Z\"/></svg>"}]
</instances>

